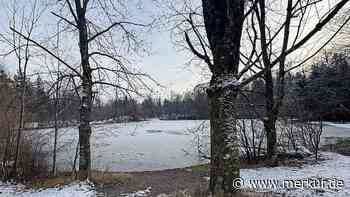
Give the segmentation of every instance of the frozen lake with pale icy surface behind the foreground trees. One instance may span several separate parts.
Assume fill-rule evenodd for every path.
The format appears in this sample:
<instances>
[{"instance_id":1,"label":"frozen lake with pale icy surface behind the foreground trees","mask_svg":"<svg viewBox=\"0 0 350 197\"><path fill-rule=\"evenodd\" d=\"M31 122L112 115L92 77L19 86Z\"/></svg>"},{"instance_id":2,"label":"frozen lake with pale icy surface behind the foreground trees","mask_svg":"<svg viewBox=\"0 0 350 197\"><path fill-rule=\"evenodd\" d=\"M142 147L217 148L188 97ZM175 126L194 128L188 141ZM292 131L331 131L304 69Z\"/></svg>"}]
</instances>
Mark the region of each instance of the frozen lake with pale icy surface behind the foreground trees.
<instances>
[{"instance_id":1,"label":"frozen lake with pale icy surface behind the foreground trees","mask_svg":"<svg viewBox=\"0 0 350 197\"><path fill-rule=\"evenodd\" d=\"M94 125L91 138L92 168L107 171L151 171L181 168L203 163L191 133L204 121L151 120ZM209 122L204 122L208 125ZM53 129L48 144L53 144ZM350 129L325 126L323 143L334 137L350 137ZM58 167L71 170L78 139L77 128L59 130ZM208 141L204 136L204 140ZM50 147L52 149L52 147Z\"/></svg>"}]
</instances>

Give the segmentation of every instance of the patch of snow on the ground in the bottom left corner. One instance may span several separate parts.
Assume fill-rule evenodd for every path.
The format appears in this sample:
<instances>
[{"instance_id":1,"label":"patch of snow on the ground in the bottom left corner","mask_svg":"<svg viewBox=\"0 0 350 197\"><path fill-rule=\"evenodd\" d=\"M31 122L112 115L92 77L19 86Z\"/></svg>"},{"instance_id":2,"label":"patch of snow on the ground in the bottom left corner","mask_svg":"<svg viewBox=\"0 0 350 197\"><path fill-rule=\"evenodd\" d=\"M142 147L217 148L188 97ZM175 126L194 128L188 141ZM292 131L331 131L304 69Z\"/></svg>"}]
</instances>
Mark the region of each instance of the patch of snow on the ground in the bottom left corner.
<instances>
[{"instance_id":1,"label":"patch of snow on the ground in the bottom left corner","mask_svg":"<svg viewBox=\"0 0 350 197\"><path fill-rule=\"evenodd\" d=\"M0 182L0 197L96 197L90 182L73 183L61 188L28 190L24 185Z\"/></svg>"}]
</instances>

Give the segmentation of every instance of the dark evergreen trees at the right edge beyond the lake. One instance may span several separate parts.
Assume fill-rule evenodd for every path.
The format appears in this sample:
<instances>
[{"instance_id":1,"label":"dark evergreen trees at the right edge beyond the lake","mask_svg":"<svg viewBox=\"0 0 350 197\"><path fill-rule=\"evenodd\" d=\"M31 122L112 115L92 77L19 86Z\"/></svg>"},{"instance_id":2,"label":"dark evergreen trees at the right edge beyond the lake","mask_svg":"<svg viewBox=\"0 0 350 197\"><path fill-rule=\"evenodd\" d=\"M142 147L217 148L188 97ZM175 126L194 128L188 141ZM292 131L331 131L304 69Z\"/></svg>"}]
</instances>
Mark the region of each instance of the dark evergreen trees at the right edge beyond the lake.
<instances>
[{"instance_id":1,"label":"dark evergreen trees at the right edge beyond the lake","mask_svg":"<svg viewBox=\"0 0 350 197\"><path fill-rule=\"evenodd\" d=\"M308 119L350 120L350 56L325 53L309 72L289 78L286 106L299 106Z\"/></svg>"}]
</instances>

